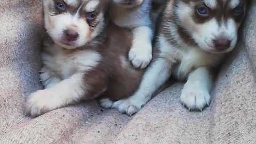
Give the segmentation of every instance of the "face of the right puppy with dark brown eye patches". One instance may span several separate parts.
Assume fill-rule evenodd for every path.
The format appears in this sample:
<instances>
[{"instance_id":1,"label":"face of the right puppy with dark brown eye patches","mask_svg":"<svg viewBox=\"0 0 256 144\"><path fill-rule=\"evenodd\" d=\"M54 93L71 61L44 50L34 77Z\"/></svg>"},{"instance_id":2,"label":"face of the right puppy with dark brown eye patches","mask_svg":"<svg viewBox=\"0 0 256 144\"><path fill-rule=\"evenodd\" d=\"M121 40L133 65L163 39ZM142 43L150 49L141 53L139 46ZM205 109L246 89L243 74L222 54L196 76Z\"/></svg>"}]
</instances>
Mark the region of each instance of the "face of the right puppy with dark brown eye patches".
<instances>
[{"instance_id":1,"label":"face of the right puppy with dark brown eye patches","mask_svg":"<svg viewBox=\"0 0 256 144\"><path fill-rule=\"evenodd\" d=\"M234 49L247 0L176 1L178 25L204 51L221 53Z\"/></svg>"}]
</instances>

